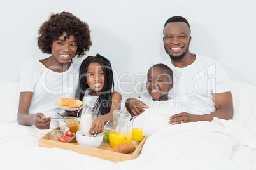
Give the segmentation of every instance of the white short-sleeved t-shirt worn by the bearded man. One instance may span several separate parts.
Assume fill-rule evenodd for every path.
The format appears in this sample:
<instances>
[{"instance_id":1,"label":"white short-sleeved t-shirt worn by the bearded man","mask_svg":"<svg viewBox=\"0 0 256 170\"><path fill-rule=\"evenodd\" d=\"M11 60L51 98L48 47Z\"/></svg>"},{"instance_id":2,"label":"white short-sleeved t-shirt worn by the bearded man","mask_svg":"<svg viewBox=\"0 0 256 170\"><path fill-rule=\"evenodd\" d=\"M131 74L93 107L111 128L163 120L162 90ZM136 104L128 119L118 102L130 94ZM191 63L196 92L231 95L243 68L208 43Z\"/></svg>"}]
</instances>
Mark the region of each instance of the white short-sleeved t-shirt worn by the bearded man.
<instances>
[{"instance_id":1,"label":"white short-sleeved t-shirt worn by the bearded man","mask_svg":"<svg viewBox=\"0 0 256 170\"><path fill-rule=\"evenodd\" d=\"M231 91L229 78L220 63L196 55L196 60L187 67L175 67L171 59L164 62L173 70L173 89L169 98L181 101L191 114L210 114L216 110L213 93ZM149 98L146 84L140 97Z\"/></svg>"}]
</instances>

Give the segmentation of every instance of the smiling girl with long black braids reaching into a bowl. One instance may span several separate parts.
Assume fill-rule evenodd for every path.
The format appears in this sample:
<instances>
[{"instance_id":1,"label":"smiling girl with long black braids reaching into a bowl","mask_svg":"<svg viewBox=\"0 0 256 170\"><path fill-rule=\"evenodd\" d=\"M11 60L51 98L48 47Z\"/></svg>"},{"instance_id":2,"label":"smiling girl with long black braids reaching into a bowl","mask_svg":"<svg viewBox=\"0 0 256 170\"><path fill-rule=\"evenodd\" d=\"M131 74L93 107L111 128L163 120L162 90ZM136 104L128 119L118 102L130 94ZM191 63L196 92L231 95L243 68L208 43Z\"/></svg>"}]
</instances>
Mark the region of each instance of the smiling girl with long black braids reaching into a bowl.
<instances>
[{"instance_id":1,"label":"smiling girl with long black braids reaching into a bowl","mask_svg":"<svg viewBox=\"0 0 256 170\"><path fill-rule=\"evenodd\" d=\"M85 96L92 97L96 102L97 118L92 123L90 134L99 134L104 130L106 122L113 122L113 110L120 109L122 95L113 91L114 80L110 61L97 54L83 60L79 70L80 80L76 97L83 100Z\"/></svg>"}]
</instances>

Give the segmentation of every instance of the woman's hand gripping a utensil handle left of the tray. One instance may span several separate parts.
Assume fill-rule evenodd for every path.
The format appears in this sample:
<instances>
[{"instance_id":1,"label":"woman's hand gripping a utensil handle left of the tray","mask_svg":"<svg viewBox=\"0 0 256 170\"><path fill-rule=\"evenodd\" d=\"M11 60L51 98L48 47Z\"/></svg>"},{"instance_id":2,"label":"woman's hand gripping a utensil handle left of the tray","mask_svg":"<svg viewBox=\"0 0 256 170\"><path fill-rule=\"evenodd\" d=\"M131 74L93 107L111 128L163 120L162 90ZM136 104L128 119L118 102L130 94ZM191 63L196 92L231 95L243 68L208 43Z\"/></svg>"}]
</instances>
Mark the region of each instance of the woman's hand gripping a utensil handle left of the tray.
<instances>
[{"instance_id":1,"label":"woman's hand gripping a utensil handle left of the tray","mask_svg":"<svg viewBox=\"0 0 256 170\"><path fill-rule=\"evenodd\" d=\"M34 126L38 129L49 129L51 117L47 117L42 113L33 114Z\"/></svg>"}]
</instances>

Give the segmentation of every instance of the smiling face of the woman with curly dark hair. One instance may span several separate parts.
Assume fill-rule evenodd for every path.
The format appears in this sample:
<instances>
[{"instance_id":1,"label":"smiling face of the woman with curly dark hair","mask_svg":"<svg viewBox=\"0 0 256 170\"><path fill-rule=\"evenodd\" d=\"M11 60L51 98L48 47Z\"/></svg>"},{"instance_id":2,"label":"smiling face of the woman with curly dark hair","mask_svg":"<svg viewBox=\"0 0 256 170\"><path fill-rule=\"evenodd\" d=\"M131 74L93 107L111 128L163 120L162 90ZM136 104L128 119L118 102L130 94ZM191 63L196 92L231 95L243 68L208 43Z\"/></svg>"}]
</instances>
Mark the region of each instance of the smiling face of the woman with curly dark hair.
<instances>
[{"instance_id":1,"label":"smiling face of the woman with curly dark hair","mask_svg":"<svg viewBox=\"0 0 256 170\"><path fill-rule=\"evenodd\" d=\"M76 55L77 42L74 36L64 39L66 32L52 42L52 56L61 64L68 64Z\"/></svg>"}]
</instances>

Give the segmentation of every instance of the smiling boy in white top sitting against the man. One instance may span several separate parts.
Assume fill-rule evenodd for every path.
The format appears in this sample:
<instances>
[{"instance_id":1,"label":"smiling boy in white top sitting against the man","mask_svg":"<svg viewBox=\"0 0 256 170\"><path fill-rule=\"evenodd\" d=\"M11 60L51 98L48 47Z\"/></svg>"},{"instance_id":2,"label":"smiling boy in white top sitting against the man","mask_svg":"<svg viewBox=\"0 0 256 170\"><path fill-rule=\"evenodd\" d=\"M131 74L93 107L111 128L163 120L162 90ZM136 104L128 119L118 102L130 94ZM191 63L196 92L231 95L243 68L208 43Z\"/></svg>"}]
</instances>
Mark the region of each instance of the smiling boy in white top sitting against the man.
<instances>
[{"instance_id":1,"label":"smiling boy in white top sitting against the man","mask_svg":"<svg viewBox=\"0 0 256 170\"><path fill-rule=\"evenodd\" d=\"M173 88L173 71L164 64L150 67L147 74L146 90L151 97L138 98L149 107L138 116L140 119L144 119L144 135L150 136L155 131L168 126L171 115L185 111L181 101L174 98L168 100L171 88Z\"/></svg>"}]
</instances>

